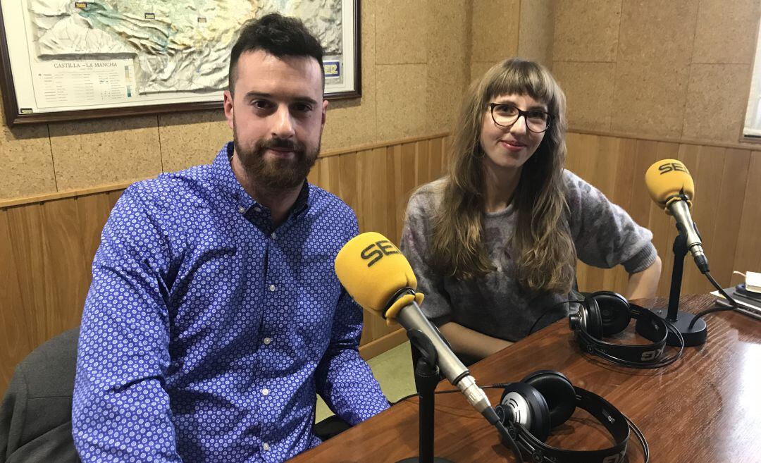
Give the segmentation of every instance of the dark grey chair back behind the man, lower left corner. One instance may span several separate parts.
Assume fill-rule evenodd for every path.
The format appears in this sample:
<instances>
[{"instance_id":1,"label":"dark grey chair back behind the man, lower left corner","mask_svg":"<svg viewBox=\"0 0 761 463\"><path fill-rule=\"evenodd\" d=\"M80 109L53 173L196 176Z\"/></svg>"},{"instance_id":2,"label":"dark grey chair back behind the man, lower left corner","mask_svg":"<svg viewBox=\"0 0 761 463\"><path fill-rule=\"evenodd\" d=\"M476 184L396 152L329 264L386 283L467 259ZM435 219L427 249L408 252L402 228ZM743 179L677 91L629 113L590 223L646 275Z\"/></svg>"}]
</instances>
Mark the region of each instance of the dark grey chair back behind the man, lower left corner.
<instances>
[{"instance_id":1,"label":"dark grey chair back behind the man, lower left corner","mask_svg":"<svg viewBox=\"0 0 761 463\"><path fill-rule=\"evenodd\" d=\"M0 463L79 463L72 395L79 328L59 334L16 366L0 405Z\"/></svg>"}]
</instances>

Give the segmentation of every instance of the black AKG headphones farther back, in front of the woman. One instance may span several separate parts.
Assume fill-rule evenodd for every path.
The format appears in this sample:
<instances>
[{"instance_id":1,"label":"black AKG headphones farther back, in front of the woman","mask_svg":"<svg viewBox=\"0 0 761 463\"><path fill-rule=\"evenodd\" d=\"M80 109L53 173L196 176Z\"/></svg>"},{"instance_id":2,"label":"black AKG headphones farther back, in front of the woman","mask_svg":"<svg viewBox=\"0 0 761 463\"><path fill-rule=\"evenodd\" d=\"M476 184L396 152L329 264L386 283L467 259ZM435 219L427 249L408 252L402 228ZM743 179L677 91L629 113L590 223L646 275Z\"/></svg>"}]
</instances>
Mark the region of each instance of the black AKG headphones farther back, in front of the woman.
<instances>
[{"instance_id":1,"label":"black AKG headphones farther back, in front of the woman","mask_svg":"<svg viewBox=\"0 0 761 463\"><path fill-rule=\"evenodd\" d=\"M612 291L598 291L585 295L579 302L578 312L568 315L568 323L576 333L581 349L610 360L620 366L632 368L660 368L676 362L682 355L684 339L670 322L647 308L629 304L625 297ZM651 344L614 344L603 341L629 326L635 318L635 330ZM680 350L671 357L662 358L666 338L671 331L679 340Z\"/></svg>"}]
</instances>

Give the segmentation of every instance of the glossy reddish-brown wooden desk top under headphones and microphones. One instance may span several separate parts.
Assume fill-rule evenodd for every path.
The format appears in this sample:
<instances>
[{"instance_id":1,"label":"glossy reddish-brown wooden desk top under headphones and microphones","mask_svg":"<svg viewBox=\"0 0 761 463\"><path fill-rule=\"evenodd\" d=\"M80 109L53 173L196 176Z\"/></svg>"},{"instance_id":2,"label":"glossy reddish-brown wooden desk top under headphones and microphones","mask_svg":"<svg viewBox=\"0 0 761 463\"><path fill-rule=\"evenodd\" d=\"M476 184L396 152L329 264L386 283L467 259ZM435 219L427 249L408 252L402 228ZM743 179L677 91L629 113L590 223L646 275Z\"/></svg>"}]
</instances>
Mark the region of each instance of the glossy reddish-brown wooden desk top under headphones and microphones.
<instances>
[{"instance_id":1,"label":"glossy reddish-brown wooden desk top under headphones and microphones","mask_svg":"<svg viewBox=\"0 0 761 463\"><path fill-rule=\"evenodd\" d=\"M712 296L684 296L683 310L712 305ZM663 299L638 301L665 308ZM708 341L686 347L682 359L662 369L613 366L581 354L564 319L476 363L479 385L520 381L539 369L556 369L581 388L601 395L642 429L653 462L761 461L761 323L746 315L707 315ZM633 324L629 330L633 330ZM622 342L637 342L627 333ZM617 341L613 341L617 342ZM671 348L667 353L672 353ZM452 386L441 382L438 390ZM486 389L492 405L501 389ZM454 462L514 461L498 435L461 394L437 394L435 455ZM605 429L584 410L553 429L549 445L603 449ZM418 399L391 407L292 459L298 461L399 461L418 455ZM629 462L642 461L635 437Z\"/></svg>"}]
</instances>

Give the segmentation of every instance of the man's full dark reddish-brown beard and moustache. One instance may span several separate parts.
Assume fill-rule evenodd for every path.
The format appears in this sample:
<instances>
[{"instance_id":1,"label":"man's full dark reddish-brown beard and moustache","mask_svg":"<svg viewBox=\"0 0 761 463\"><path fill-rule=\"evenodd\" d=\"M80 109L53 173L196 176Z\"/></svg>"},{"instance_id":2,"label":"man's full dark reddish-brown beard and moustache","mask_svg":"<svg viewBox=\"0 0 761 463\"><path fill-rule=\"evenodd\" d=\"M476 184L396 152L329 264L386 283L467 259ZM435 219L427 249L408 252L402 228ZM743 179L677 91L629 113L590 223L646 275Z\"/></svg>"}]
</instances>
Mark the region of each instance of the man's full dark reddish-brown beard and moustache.
<instances>
[{"instance_id":1,"label":"man's full dark reddish-brown beard and moustache","mask_svg":"<svg viewBox=\"0 0 761 463\"><path fill-rule=\"evenodd\" d=\"M302 142L288 139L260 139L251 148L244 148L238 142L237 131L233 129L233 142L240 163L243 164L247 174L256 185L265 187L267 190L291 190L301 186L307 178L307 174L317 161L320 153L320 145L313 151L307 151ZM280 148L294 153L294 157L265 159L267 149Z\"/></svg>"}]
</instances>

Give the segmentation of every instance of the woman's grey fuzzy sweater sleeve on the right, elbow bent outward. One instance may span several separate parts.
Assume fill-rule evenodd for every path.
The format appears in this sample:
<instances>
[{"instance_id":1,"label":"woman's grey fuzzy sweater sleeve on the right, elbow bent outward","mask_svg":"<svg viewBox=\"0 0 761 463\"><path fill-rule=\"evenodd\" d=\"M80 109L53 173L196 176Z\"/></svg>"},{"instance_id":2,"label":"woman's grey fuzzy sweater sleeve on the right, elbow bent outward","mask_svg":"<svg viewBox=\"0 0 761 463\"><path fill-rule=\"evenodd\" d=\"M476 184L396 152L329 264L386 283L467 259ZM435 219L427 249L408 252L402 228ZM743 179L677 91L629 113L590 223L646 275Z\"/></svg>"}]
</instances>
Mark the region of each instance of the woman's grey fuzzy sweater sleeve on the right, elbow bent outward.
<instances>
[{"instance_id":1,"label":"woman's grey fuzzy sweater sleeve on the right, elbow bent outward","mask_svg":"<svg viewBox=\"0 0 761 463\"><path fill-rule=\"evenodd\" d=\"M650 267L658 257L652 232L576 174L565 171L564 176L568 225L578 258L595 267L622 264L628 273Z\"/></svg>"}]
</instances>

